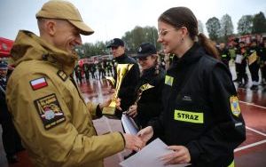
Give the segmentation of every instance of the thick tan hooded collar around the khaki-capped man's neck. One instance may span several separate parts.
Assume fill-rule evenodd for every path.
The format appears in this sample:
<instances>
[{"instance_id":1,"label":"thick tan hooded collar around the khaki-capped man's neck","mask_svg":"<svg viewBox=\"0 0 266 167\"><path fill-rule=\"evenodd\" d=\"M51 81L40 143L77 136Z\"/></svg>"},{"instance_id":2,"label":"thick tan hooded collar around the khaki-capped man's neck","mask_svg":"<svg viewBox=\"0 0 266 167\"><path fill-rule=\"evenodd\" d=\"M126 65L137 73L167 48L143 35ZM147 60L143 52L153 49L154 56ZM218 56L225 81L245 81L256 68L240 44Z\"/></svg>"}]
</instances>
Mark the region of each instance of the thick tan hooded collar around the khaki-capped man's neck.
<instances>
[{"instance_id":1,"label":"thick tan hooded collar around the khaki-capped man's neck","mask_svg":"<svg viewBox=\"0 0 266 167\"><path fill-rule=\"evenodd\" d=\"M43 41L34 33L25 30L20 30L13 44L11 54L15 66L26 60L52 60L51 62L68 76L72 74L74 65L78 60L76 54L60 50Z\"/></svg>"}]
</instances>

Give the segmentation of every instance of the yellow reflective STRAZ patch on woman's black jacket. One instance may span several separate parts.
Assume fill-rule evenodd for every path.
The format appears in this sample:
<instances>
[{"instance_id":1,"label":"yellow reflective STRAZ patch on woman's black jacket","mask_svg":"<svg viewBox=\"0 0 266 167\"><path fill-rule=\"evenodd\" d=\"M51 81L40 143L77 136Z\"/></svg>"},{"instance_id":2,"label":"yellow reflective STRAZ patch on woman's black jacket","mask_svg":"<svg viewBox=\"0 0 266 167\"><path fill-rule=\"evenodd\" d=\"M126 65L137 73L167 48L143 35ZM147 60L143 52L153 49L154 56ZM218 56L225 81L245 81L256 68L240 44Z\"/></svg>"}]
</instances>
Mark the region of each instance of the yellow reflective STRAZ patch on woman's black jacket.
<instances>
[{"instance_id":1,"label":"yellow reflective STRAZ patch on woman's black jacket","mask_svg":"<svg viewBox=\"0 0 266 167\"><path fill-rule=\"evenodd\" d=\"M203 113L175 110L174 119L189 123L204 123Z\"/></svg>"}]
</instances>

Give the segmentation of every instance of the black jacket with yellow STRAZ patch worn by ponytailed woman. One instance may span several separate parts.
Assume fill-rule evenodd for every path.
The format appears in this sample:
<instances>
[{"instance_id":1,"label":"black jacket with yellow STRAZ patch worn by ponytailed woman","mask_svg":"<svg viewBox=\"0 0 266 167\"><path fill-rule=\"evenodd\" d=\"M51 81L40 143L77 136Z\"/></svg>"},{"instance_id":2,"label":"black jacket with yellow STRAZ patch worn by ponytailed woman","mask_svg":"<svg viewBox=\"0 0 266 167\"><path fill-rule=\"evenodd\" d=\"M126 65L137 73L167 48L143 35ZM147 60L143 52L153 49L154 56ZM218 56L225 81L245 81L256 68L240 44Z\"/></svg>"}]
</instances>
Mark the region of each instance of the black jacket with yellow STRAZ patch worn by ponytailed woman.
<instances>
[{"instance_id":1,"label":"black jacket with yellow STRAZ patch worn by ponytailed woman","mask_svg":"<svg viewBox=\"0 0 266 167\"><path fill-rule=\"evenodd\" d=\"M246 139L231 73L199 44L174 59L163 90L164 110L151 123L168 145L189 149L192 166L228 166Z\"/></svg>"}]
</instances>

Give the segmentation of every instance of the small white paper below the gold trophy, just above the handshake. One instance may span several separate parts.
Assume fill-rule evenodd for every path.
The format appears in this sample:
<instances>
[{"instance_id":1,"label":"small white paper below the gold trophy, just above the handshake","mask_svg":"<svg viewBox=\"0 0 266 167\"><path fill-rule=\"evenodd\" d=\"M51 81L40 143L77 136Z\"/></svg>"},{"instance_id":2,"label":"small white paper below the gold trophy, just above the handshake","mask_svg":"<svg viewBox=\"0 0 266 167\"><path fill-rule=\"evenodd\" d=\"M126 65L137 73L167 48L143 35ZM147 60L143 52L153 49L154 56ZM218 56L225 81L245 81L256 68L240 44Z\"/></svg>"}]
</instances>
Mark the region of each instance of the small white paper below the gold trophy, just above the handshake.
<instances>
[{"instance_id":1,"label":"small white paper below the gold trophy, just above the handshake","mask_svg":"<svg viewBox=\"0 0 266 167\"><path fill-rule=\"evenodd\" d=\"M121 123L126 133L137 135L137 124L128 115L121 116Z\"/></svg>"}]
</instances>

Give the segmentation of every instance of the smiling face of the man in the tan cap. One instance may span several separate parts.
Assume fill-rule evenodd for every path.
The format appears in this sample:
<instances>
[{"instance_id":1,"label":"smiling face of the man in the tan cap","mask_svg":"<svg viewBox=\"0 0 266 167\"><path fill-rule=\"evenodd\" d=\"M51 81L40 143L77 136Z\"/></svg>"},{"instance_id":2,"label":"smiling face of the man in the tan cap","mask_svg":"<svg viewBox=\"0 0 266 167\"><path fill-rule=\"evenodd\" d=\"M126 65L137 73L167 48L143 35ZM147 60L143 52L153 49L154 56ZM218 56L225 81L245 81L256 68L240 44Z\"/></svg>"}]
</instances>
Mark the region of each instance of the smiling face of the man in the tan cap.
<instances>
[{"instance_id":1,"label":"smiling face of the man in the tan cap","mask_svg":"<svg viewBox=\"0 0 266 167\"><path fill-rule=\"evenodd\" d=\"M82 44L79 29L66 20L58 20L55 24L53 44L68 53L74 53L74 46Z\"/></svg>"}]
</instances>

